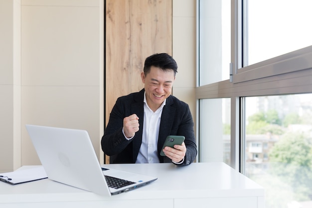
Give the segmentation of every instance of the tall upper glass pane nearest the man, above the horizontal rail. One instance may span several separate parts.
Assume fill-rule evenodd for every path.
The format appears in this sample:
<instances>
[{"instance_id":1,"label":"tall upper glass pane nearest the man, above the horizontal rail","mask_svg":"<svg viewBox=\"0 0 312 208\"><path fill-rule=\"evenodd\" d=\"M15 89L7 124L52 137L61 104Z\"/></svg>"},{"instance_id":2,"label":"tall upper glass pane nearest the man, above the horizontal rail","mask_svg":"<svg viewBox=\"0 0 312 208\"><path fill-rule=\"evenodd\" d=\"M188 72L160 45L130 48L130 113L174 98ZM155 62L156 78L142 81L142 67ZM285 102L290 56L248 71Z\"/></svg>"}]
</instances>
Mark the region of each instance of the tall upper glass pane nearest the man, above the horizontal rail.
<instances>
[{"instance_id":1,"label":"tall upper glass pane nearest the man, above the horizontal rail","mask_svg":"<svg viewBox=\"0 0 312 208\"><path fill-rule=\"evenodd\" d=\"M229 79L231 0L199 1L199 85Z\"/></svg>"}]
</instances>

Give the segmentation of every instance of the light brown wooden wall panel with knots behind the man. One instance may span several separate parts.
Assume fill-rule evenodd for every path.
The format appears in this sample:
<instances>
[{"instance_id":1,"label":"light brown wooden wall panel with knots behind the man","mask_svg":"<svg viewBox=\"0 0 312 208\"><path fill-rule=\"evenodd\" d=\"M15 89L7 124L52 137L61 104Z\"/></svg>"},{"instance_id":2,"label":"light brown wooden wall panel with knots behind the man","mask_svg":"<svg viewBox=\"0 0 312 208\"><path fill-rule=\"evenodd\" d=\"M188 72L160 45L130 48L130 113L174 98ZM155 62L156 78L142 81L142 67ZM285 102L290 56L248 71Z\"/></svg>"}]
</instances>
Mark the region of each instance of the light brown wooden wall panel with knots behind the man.
<instances>
[{"instance_id":1,"label":"light brown wooden wall panel with knots behind the man","mask_svg":"<svg viewBox=\"0 0 312 208\"><path fill-rule=\"evenodd\" d=\"M116 99L144 87L140 74L145 58L172 55L172 0L106 0L105 21L107 125Z\"/></svg>"}]
</instances>

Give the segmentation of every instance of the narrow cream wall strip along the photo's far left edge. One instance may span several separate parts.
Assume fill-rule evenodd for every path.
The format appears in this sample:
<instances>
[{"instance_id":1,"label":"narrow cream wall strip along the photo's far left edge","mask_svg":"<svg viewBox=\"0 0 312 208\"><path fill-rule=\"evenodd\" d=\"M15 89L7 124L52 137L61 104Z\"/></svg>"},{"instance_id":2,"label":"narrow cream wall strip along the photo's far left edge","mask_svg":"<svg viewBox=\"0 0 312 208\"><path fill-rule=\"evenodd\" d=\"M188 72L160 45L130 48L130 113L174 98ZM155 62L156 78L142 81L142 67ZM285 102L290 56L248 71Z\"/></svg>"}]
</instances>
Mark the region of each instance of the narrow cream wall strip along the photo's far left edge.
<instances>
[{"instance_id":1,"label":"narrow cream wall strip along the photo's far left edge","mask_svg":"<svg viewBox=\"0 0 312 208\"><path fill-rule=\"evenodd\" d=\"M20 3L0 1L0 172L19 168Z\"/></svg>"}]
</instances>

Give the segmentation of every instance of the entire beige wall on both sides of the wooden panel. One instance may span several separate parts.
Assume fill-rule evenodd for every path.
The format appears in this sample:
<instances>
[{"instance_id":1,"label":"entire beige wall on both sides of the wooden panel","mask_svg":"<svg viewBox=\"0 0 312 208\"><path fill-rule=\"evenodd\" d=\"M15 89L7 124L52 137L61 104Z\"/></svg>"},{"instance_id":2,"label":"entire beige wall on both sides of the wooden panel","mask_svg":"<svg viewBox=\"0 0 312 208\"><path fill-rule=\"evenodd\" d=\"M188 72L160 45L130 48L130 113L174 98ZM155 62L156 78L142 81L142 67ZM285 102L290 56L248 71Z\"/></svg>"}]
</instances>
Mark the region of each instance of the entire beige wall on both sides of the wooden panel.
<instances>
[{"instance_id":1,"label":"entire beige wall on both sides of the wooden panel","mask_svg":"<svg viewBox=\"0 0 312 208\"><path fill-rule=\"evenodd\" d=\"M195 4L173 0L173 95L194 120ZM103 163L103 7L103 0L0 1L0 172L39 164L25 124L86 129Z\"/></svg>"}]
</instances>

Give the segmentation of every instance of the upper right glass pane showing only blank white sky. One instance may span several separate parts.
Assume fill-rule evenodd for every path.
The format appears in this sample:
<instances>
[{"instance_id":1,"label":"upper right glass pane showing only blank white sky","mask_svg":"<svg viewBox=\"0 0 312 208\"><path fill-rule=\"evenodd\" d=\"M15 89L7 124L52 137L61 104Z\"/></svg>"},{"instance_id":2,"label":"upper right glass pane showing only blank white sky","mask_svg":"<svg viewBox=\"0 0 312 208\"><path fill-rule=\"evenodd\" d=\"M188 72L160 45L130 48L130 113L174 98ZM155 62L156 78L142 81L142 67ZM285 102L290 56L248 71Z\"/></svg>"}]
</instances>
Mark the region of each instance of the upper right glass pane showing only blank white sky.
<instances>
[{"instance_id":1,"label":"upper right glass pane showing only blank white sky","mask_svg":"<svg viewBox=\"0 0 312 208\"><path fill-rule=\"evenodd\" d=\"M246 2L247 65L312 45L312 0Z\"/></svg>"}]
</instances>

